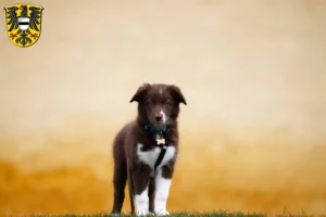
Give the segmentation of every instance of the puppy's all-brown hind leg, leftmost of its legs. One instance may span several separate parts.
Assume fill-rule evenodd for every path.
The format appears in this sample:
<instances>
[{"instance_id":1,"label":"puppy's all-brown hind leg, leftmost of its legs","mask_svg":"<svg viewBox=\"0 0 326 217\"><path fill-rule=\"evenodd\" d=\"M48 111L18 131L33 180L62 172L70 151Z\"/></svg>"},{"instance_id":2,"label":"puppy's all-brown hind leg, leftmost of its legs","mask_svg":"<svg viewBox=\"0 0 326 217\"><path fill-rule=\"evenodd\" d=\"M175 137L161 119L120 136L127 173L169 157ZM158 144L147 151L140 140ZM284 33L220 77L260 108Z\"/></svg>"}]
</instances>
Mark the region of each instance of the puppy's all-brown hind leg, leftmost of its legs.
<instances>
[{"instance_id":1,"label":"puppy's all-brown hind leg, leftmost of its legs","mask_svg":"<svg viewBox=\"0 0 326 217\"><path fill-rule=\"evenodd\" d=\"M114 202L112 214L120 214L125 200L125 187L127 181L127 165L124 162L114 163Z\"/></svg>"}]
</instances>

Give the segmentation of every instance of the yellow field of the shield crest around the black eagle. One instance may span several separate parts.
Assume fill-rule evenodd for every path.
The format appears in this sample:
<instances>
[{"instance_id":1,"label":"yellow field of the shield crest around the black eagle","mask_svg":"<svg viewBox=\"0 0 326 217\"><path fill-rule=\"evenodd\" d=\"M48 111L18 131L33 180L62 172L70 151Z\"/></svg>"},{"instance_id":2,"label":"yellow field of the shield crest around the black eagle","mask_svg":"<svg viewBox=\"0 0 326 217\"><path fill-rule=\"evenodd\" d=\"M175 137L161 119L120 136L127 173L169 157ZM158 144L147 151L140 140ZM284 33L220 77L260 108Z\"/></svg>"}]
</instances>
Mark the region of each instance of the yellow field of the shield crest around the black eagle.
<instances>
[{"instance_id":1,"label":"yellow field of the shield crest around the black eagle","mask_svg":"<svg viewBox=\"0 0 326 217\"><path fill-rule=\"evenodd\" d=\"M22 5L22 4L11 4L11 5L7 5L7 7L17 7L17 8L20 9L21 5ZM27 11L28 17L29 17L30 12L32 12L32 11L29 10L30 7L37 7L37 8L40 8L39 5L35 5L35 4L26 4L26 5L27 5L27 9L28 9L28 11ZM21 16L21 13L22 13L22 11L21 11L21 10L17 10L17 11L16 11L16 16L17 16L17 17ZM9 22L10 22L10 18L7 17L7 23L9 23ZM30 42L30 43L27 43L24 48L27 48L27 47L29 47L29 46L33 46L33 44L39 39L39 37L40 37L40 35L41 35L42 11L41 11L41 13L40 13L40 18L38 18L38 22L39 22L40 24L36 24L36 25L37 25L39 31L37 31L37 30L35 30L35 29L32 29L30 27L28 28L28 30L29 30L30 34L33 34L33 35L37 34L37 38L30 37L30 35L27 34L27 35L28 35L28 38L32 40L32 42ZM10 27L11 27L11 25L7 25L7 30L9 30ZM18 30L20 30L20 27L16 28L16 29L14 29L14 30L12 30L12 31L7 31L7 35L8 35L9 39L10 39L15 46L23 47L22 43L16 43L16 41L15 41L15 40L21 36L21 34L17 35L17 37L15 37L15 38L10 38L10 35L11 35L11 34L16 34Z\"/></svg>"}]
</instances>

